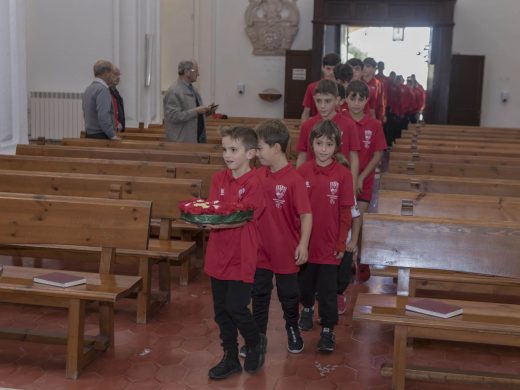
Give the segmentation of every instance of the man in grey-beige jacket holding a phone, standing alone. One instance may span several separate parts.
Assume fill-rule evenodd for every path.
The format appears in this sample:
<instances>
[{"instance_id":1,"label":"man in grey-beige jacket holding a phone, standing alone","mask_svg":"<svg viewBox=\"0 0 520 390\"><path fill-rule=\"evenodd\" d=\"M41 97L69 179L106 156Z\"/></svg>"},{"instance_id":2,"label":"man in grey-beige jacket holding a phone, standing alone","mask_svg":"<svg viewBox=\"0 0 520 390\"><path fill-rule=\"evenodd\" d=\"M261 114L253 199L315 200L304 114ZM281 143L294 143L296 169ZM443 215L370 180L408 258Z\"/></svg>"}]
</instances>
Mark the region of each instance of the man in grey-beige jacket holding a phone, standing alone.
<instances>
[{"instance_id":1,"label":"man in grey-beige jacket holding a phone, standing alone","mask_svg":"<svg viewBox=\"0 0 520 390\"><path fill-rule=\"evenodd\" d=\"M205 143L204 117L215 112L217 106L202 105L202 98L192 85L199 75L196 61L181 61L178 74L163 100L166 138L173 142Z\"/></svg>"}]
</instances>

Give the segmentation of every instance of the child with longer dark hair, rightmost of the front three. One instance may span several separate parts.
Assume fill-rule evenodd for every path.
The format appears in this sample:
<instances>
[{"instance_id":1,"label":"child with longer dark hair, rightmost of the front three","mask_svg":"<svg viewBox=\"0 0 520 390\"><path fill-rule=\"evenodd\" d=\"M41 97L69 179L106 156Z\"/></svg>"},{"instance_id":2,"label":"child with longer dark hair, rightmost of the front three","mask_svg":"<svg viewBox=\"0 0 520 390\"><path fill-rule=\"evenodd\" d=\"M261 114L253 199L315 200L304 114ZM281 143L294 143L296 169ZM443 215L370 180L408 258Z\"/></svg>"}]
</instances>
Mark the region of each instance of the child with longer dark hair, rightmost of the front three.
<instances>
[{"instance_id":1,"label":"child with longer dark hair, rightmost of the front three","mask_svg":"<svg viewBox=\"0 0 520 390\"><path fill-rule=\"evenodd\" d=\"M319 304L321 335L318 351L332 352L334 326L338 322L338 266L346 250L347 233L354 205L354 189L350 171L338 162L336 155L341 134L334 122L324 120L311 132L314 160L298 168L305 179L313 211L313 227L309 244L309 260L300 271L301 330L313 326L315 295Z\"/></svg>"}]
</instances>

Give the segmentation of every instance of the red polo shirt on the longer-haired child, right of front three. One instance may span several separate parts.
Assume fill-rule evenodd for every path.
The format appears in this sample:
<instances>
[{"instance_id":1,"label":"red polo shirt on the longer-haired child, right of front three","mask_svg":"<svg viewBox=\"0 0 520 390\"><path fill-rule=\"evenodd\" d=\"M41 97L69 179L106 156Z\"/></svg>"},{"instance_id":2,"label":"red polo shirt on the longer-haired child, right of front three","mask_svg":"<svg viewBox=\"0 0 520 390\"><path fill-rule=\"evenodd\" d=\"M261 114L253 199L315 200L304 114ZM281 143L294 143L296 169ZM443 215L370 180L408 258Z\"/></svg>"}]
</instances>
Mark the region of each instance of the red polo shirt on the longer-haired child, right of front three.
<instances>
[{"instance_id":1,"label":"red polo shirt on the longer-haired child, right of front three","mask_svg":"<svg viewBox=\"0 0 520 390\"><path fill-rule=\"evenodd\" d=\"M352 175L336 160L326 167L318 166L315 160L307 161L298 172L305 179L312 208L309 263L339 265L341 259L334 252L340 231L340 208L354 205Z\"/></svg>"}]
</instances>

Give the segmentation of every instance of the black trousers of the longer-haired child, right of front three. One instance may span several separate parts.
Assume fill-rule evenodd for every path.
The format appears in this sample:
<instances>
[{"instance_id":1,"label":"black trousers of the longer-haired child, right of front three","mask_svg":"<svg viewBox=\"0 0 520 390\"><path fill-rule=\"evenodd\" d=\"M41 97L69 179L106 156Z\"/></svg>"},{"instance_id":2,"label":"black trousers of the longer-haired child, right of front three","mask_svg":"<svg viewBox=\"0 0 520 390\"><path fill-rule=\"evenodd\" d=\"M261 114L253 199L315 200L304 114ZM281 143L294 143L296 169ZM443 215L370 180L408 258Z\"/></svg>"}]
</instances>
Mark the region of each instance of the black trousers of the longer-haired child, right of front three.
<instances>
[{"instance_id":1,"label":"black trousers of the longer-haired child, right of front three","mask_svg":"<svg viewBox=\"0 0 520 390\"><path fill-rule=\"evenodd\" d=\"M318 295L318 313L324 328L338 323L338 266L307 263L300 269L300 302L304 307L314 306Z\"/></svg>"}]
</instances>

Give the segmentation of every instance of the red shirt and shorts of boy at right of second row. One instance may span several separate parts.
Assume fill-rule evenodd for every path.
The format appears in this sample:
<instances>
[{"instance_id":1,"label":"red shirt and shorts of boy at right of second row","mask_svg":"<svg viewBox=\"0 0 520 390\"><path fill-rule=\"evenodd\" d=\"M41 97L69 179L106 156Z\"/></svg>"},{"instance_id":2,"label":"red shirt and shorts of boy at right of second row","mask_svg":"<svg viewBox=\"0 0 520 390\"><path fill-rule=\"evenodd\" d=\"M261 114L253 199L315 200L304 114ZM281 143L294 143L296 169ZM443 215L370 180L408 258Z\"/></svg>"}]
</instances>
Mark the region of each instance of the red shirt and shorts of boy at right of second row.
<instances>
[{"instance_id":1,"label":"red shirt and shorts of boy at right of second row","mask_svg":"<svg viewBox=\"0 0 520 390\"><path fill-rule=\"evenodd\" d=\"M359 122L354 120L348 114L354 125L359 137L361 149L358 152L359 158L359 173L363 172L368 165L375 152L385 150L387 148L385 134L381 122L372 118L370 115L365 115ZM363 192L358 195L358 199L370 201L372 198L372 188L374 186L375 169L363 181Z\"/></svg>"}]
</instances>

